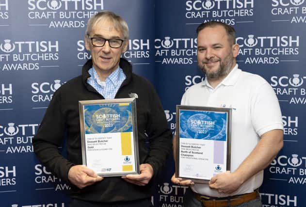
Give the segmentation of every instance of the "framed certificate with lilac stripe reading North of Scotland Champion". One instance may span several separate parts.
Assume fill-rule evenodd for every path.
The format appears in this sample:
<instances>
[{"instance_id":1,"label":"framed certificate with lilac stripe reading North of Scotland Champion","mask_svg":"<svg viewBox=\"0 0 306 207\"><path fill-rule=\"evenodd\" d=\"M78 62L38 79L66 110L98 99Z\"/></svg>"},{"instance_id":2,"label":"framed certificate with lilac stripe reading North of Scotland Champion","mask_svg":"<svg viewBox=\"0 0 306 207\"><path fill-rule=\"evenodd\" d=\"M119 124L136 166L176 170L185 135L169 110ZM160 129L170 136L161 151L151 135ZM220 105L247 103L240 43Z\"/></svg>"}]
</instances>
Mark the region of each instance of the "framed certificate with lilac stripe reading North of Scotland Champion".
<instances>
[{"instance_id":1,"label":"framed certificate with lilac stripe reading North of Scotland Champion","mask_svg":"<svg viewBox=\"0 0 306 207\"><path fill-rule=\"evenodd\" d=\"M208 183L230 171L230 108L177 105L176 177Z\"/></svg>"}]
</instances>

